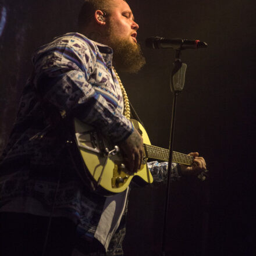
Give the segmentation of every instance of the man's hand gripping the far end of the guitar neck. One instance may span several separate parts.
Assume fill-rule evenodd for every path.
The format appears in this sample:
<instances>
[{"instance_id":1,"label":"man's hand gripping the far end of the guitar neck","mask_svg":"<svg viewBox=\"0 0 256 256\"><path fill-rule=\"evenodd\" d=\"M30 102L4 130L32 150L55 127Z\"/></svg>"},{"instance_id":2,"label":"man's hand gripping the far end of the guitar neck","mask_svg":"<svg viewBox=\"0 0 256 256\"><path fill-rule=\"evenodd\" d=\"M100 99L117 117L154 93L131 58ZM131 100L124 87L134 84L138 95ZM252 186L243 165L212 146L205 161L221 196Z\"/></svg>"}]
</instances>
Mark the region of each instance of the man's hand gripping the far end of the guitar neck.
<instances>
[{"instance_id":1,"label":"man's hand gripping the far end of the guitar neck","mask_svg":"<svg viewBox=\"0 0 256 256\"><path fill-rule=\"evenodd\" d=\"M180 175L182 176L198 176L201 172L206 171L206 163L203 157L199 157L198 152L191 152L189 155L194 157L191 166L180 165Z\"/></svg>"}]
</instances>

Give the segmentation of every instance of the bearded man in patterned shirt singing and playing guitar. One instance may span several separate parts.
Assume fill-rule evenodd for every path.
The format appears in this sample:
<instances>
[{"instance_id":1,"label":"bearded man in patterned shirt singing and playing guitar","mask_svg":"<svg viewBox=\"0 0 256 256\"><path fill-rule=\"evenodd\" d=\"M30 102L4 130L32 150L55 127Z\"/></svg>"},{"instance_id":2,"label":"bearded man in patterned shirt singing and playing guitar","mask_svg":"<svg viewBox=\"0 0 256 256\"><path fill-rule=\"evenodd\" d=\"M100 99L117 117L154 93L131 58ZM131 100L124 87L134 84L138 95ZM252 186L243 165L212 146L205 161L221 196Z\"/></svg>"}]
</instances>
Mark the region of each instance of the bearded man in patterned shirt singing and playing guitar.
<instances>
[{"instance_id":1,"label":"bearded man in patterned shirt singing and playing guitar","mask_svg":"<svg viewBox=\"0 0 256 256\"><path fill-rule=\"evenodd\" d=\"M66 141L78 118L119 145L128 173L140 168L143 140L123 115L127 104L112 67L133 73L144 65L137 30L127 2L88 0L79 33L35 52L1 157L2 255L123 254L128 190L105 198L84 186ZM206 169L204 158L191 155L193 166L173 164L173 178ZM166 173L166 163L150 167L154 176Z\"/></svg>"}]
</instances>

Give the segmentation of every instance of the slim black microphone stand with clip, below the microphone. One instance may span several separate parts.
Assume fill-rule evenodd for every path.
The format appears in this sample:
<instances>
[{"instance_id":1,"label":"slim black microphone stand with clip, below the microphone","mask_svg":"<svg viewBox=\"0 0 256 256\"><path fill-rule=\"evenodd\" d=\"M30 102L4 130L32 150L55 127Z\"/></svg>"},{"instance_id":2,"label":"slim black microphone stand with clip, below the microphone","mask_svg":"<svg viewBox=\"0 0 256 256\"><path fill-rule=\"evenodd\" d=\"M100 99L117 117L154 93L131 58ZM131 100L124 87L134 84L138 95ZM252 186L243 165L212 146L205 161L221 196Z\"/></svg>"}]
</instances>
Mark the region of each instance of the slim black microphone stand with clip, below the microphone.
<instances>
[{"instance_id":1,"label":"slim black microphone stand with clip, below the microphone","mask_svg":"<svg viewBox=\"0 0 256 256\"><path fill-rule=\"evenodd\" d=\"M172 155L173 155L173 141L175 130L175 113L177 96L182 92L184 87L185 73L187 65L182 63L180 59L181 49L176 49L175 62L173 63L173 70L170 74L170 91L173 93L173 106L172 106L172 122L170 126L170 140L169 140L169 161L168 161L168 179L165 198L165 217L163 222L163 237L162 237L162 256L166 255L166 225L168 223L168 208L170 200L170 170L172 168Z\"/></svg>"}]
</instances>

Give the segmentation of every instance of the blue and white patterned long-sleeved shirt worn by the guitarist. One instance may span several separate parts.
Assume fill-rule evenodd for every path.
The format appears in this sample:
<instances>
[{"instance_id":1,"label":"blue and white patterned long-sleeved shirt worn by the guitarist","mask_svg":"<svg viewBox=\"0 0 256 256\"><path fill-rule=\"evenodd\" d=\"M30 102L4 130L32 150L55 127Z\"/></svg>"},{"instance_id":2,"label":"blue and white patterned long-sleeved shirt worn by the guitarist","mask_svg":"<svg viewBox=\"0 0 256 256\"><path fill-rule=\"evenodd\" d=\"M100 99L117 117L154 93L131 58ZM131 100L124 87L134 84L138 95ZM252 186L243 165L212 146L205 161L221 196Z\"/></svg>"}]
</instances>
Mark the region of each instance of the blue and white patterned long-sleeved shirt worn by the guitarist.
<instances>
[{"instance_id":1,"label":"blue and white patterned long-sleeved shirt worn by the guitarist","mask_svg":"<svg viewBox=\"0 0 256 256\"><path fill-rule=\"evenodd\" d=\"M123 97L112 71L112 54L111 48L79 33L56 37L35 52L34 70L0 158L0 211L7 207L48 216L62 170L54 216L73 219L79 223L80 237L93 238L105 198L90 193L74 171L63 143L63 119L76 116L115 143L133 132L122 114ZM155 179L165 178L166 163L152 162L150 167ZM179 177L176 165L172 176ZM124 235L120 226L108 255L122 255Z\"/></svg>"}]
</instances>

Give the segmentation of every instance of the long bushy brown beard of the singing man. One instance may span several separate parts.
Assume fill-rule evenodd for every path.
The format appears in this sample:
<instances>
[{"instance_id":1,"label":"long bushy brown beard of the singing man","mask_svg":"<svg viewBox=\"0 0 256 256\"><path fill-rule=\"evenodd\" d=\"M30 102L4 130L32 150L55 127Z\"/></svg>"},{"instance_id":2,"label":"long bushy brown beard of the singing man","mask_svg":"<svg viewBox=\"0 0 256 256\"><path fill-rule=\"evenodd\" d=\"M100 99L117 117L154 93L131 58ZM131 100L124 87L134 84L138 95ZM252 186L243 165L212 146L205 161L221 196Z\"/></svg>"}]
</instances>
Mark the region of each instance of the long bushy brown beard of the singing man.
<instances>
[{"instance_id":1,"label":"long bushy brown beard of the singing man","mask_svg":"<svg viewBox=\"0 0 256 256\"><path fill-rule=\"evenodd\" d=\"M113 49L113 65L120 72L137 73L145 65L140 45L130 41L130 36L120 38L114 33L115 24L108 30L108 46Z\"/></svg>"}]
</instances>

